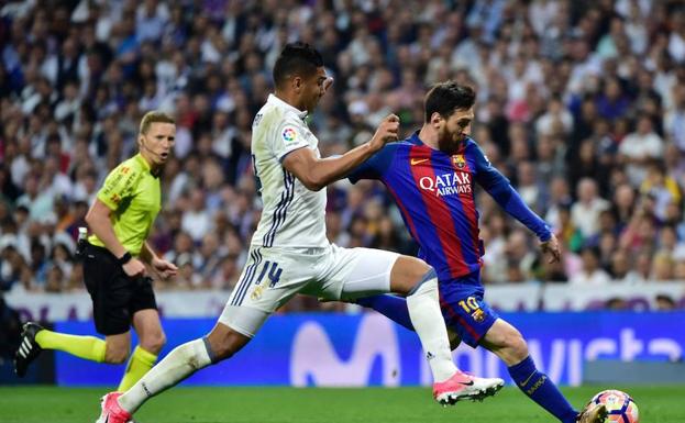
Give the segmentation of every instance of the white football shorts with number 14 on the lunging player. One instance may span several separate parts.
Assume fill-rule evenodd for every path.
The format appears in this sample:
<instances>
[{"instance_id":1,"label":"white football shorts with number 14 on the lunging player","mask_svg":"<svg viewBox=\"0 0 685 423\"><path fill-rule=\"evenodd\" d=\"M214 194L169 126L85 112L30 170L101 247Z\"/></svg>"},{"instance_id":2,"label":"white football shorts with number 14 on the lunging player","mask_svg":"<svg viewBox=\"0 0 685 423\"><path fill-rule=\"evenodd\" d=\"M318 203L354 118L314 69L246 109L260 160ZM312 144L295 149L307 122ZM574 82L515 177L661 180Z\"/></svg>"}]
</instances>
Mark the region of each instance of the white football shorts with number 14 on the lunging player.
<instances>
[{"instance_id":1,"label":"white football shorts with number 14 on the lunging player","mask_svg":"<svg viewBox=\"0 0 685 423\"><path fill-rule=\"evenodd\" d=\"M219 322L254 336L270 313L296 293L349 300L390 291L399 254L371 248L250 248Z\"/></svg>"}]
</instances>

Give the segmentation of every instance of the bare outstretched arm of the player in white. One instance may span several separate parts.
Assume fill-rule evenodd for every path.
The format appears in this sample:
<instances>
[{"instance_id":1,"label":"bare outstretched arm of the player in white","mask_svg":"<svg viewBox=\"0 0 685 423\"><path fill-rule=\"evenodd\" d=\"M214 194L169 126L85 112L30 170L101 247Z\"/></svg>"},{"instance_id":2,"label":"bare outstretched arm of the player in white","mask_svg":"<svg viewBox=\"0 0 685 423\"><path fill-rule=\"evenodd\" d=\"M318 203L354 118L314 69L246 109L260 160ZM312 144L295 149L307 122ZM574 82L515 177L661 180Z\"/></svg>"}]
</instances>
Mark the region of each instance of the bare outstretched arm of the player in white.
<instances>
[{"instance_id":1,"label":"bare outstretched arm of the player in white","mask_svg":"<svg viewBox=\"0 0 685 423\"><path fill-rule=\"evenodd\" d=\"M283 166L295 175L307 189L319 191L329 183L345 177L387 143L397 141L398 130L399 118L390 114L378 125L371 141L342 156L318 158L312 149L299 148L286 156Z\"/></svg>"}]
</instances>

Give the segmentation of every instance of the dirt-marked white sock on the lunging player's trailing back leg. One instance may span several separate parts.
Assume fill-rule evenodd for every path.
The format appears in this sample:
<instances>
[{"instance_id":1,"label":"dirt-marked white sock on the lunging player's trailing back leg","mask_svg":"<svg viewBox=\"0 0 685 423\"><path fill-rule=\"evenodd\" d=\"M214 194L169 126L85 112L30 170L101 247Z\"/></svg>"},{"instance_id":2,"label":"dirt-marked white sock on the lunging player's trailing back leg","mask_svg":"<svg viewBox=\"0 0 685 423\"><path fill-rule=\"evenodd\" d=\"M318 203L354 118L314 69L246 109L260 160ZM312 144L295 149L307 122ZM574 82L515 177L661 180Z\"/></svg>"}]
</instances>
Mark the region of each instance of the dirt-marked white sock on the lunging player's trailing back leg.
<instances>
[{"instance_id":1,"label":"dirt-marked white sock on the lunging player's trailing back leg","mask_svg":"<svg viewBox=\"0 0 685 423\"><path fill-rule=\"evenodd\" d=\"M174 348L126 392L119 397L119 405L134 413L150 398L187 379L212 360L205 338L195 339Z\"/></svg>"}]
</instances>

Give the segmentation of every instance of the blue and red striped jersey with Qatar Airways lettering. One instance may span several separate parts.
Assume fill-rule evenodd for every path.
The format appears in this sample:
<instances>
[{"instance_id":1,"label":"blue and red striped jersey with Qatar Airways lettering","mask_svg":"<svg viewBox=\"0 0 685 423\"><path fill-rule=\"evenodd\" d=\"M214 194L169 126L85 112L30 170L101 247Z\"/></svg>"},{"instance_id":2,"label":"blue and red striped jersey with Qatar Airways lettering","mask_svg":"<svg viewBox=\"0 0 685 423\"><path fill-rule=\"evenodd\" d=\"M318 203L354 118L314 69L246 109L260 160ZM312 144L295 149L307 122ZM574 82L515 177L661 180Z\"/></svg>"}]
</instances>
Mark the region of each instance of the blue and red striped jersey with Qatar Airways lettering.
<instances>
[{"instance_id":1,"label":"blue and red striped jersey with Qatar Airways lettering","mask_svg":"<svg viewBox=\"0 0 685 423\"><path fill-rule=\"evenodd\" d=\"M449 155L423 144L417 132L387 144L347 177L353 183L360 179L383 181L420 246L419 257L443 281L477 271L483 263L475 182L542 241L551 236L544 221L523 203L471 138Z\"/></svg>"}]
</instances>

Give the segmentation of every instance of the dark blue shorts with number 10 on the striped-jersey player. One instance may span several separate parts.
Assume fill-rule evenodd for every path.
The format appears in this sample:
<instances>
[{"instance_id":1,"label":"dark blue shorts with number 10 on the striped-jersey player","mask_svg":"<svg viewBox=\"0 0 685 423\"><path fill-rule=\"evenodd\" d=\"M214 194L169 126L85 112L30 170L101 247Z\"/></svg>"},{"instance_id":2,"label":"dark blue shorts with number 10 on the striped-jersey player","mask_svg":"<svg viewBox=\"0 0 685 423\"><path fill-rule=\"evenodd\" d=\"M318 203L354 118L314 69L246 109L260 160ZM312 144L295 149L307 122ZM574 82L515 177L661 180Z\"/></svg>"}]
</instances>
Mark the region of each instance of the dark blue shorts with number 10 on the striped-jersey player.
<instances>
[{"instance_id":1,"label":"dark blue shorts with number 10 on the striped-jersey player","mask_svg":"<svg viewBox=\"0 0 685 423\"><path fill-rule=\"evenodd\" d=\"M463 342L477 347L478 342L499 318L483 300L485 292L480 274L440 281L440 308L448 327L455 331Z\"/></svg>"}]
</instances>

